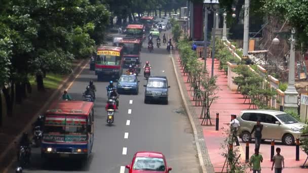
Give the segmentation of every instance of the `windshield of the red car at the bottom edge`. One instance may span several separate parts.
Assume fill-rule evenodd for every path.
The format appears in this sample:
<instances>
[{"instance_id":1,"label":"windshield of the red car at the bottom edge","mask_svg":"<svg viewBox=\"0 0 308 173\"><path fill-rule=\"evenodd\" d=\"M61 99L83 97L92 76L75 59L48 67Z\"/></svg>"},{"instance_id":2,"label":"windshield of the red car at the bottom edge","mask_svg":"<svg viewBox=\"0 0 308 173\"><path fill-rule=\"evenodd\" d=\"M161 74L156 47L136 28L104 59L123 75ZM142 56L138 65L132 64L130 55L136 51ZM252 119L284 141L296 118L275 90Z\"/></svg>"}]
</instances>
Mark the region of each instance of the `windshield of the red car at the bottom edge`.
<instances>
[{"instance_id":1,"label":"windshield of the red car at the bottom edge","mask_svg":"<svg viewBox=\"0 0 308 173\"><path fill-rule=\"evenodd\" d=\"M136 157L133 169L165 171L164 159L151 157Z\"/></svg>"}]
</instances>

